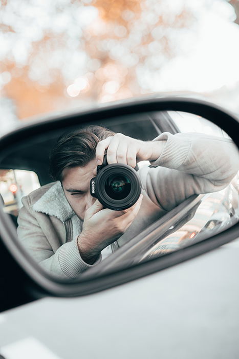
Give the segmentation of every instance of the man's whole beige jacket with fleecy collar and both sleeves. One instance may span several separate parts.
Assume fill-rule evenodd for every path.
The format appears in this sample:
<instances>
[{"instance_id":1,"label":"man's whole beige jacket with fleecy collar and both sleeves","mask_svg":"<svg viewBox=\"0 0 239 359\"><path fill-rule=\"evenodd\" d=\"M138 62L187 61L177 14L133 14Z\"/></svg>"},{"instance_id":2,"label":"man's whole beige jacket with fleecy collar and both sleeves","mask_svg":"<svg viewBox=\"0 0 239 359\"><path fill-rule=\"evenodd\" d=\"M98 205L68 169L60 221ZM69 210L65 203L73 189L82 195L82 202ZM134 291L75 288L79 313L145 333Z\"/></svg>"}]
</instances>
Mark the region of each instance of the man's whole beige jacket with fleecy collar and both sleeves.
<instances>
[{"instance_id":1,"label":"man's whole beige jacket with fleecy collar and both sleeves","mask_svg":"<svg viewBox=\"0 0 239 359\"><path fill-rule=\"evenodd\" d=\"M135 221L111 246L113 251L189 196L225 188L239 169L238 150L230 139L165 132L155 141L164 141L163 151L151 163L156 167L139 170L143 202ZM60 278L75 278L91 267L77 247L83 224L60 182L33 191L22 202L18 237L42 267Z\"/></svg>"}]
</instances>

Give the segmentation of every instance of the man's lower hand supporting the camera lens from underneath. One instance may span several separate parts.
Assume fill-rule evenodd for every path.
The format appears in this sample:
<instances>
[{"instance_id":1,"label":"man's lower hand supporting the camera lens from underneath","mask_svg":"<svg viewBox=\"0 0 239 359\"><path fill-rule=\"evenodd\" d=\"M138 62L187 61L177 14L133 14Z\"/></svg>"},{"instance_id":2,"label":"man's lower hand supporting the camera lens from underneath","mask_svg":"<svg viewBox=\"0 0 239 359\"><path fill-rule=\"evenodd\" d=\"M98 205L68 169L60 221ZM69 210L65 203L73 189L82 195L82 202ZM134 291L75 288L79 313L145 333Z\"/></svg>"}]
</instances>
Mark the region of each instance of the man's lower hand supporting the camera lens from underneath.
<instances>
[{"instance_id":1,"label":"man's lower hand supporting the camera lens from underneath","mask_svg":"<svg viewBox=\"0 0 239 359\"><path fill-rule=\"evenodd\" d=\"M102 249L115 242L132 224L139 212L143 195L134 206L123 211L105 208L96 200L85 212L83 230L78 236L78 248L83 261L93 264Z\"/></svg>"}]
</instances>

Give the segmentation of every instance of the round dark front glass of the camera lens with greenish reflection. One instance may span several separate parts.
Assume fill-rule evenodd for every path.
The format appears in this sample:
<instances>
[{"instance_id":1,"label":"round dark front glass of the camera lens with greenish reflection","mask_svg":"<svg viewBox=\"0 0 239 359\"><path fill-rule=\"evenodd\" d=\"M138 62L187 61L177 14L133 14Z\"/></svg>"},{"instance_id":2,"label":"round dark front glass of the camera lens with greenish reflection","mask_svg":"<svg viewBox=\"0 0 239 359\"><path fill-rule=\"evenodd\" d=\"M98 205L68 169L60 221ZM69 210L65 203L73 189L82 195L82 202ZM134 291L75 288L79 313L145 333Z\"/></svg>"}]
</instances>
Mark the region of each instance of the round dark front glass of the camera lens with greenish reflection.
<instances>
[{"instance_id":1,"label":"round dark front glass of the camera lens with greenish reflection","mask_svg":"<svg viewBox=\"0 0 239 359\"><path fill-rule=\"evenodd\" d=\"M131 182L126 176L115 173L106 179L104 188L113 200L123 200L131 191Z\"/></svg>"}]
</instances>

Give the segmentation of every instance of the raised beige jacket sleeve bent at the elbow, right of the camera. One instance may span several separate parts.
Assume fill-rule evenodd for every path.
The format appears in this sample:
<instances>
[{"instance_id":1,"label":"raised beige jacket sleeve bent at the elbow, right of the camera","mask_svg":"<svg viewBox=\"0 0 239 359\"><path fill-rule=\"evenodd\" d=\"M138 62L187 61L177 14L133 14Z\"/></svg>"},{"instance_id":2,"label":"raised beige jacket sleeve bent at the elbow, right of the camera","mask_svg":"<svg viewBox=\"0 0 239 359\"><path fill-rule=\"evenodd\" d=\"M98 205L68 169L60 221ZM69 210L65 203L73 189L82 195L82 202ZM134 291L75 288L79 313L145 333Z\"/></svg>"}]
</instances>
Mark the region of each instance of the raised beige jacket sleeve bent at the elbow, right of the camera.
<instances>
[{"instance_id":1,"label":"raised beige jacket sleeve bent at the elbow, right of the camera","mask_svg":"<svg viewBox=\"0 0 239 359\"><path fill-rule=\"evenodd\" d=\"M224 189L239 169L239 151L228 138L164 132L154 141L164 141L163 151L155 167L139 174L151 201L166 211L193 194Z\"/></svg>"}]
</instances>

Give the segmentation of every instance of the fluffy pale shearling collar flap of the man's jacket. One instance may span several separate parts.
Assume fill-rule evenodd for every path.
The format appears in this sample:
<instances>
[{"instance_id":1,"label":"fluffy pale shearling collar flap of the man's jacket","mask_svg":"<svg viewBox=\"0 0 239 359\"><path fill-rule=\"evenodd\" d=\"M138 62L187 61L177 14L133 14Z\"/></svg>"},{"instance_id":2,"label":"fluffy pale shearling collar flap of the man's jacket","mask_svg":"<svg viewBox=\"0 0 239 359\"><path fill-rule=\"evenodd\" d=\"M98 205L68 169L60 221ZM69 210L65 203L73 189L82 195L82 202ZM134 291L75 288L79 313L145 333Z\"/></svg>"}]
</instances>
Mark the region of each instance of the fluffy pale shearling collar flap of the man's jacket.
<instances>
[{"instance_id":1,"label":"fluffy pale shearling collar flap of the man's jacket","mask_svg":"<svg viewBox=\"0 0 239 359\"><path fill-rule=\"evenodd\" d=\"M39 198L33 205L33 210L55 216L62 222L69 220L75 214L64 195L59 181Z\"/></svg>"}]
</instances>

